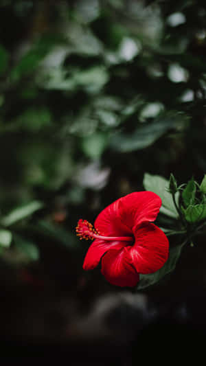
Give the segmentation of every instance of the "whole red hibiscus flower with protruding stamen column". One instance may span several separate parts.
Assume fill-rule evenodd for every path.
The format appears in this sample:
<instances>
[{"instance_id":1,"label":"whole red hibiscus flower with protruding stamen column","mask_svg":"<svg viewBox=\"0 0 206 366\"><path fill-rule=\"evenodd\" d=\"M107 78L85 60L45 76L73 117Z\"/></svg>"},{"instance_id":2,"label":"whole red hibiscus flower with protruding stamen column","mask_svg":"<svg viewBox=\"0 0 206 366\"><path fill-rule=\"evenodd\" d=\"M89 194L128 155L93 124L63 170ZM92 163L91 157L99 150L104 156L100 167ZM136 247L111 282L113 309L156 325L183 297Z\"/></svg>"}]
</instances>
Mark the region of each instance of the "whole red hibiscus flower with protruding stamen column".
<instances>
[{"instance_id":1,"label":"whole red hibiscus flower with protruding stamen column","mask_svg":"<svg viewBox=\"0 0 206 366\"><path fill-rule=\"evenodd\" d=\"M84 270L98 266L113 285L133 287L139 273L154 273L168 260L169 242L165 233L152 224L161 207L161 198L152 192L134 192L103 209L95 229L87 220L76 227L80 239L93 240L84 259Z\"/></svg>"}]
</instances>

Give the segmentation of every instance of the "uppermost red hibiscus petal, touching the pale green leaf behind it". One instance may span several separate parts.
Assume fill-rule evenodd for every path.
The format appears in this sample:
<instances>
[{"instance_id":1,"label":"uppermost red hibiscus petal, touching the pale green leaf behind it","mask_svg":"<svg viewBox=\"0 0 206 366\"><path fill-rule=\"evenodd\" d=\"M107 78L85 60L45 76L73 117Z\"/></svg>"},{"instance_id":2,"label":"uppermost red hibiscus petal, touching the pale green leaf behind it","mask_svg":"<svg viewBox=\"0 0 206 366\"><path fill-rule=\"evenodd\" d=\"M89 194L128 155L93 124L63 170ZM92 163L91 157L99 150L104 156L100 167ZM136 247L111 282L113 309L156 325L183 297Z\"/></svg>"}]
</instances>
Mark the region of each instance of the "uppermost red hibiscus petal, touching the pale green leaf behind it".
<instances>
[{"instance_id":1,"label":"uppermost red hibiscus petal, touching the pale green leaf behind it","mask_svg":"<svg viewBox=\"0 0 206 366\"><path fill-rule=\"evenodd\" d=\"M161 198L153 192L133 192L119 199L118 215L124 225L134 229L144 222L155 221Z\"/></svg>"}]
</instances>

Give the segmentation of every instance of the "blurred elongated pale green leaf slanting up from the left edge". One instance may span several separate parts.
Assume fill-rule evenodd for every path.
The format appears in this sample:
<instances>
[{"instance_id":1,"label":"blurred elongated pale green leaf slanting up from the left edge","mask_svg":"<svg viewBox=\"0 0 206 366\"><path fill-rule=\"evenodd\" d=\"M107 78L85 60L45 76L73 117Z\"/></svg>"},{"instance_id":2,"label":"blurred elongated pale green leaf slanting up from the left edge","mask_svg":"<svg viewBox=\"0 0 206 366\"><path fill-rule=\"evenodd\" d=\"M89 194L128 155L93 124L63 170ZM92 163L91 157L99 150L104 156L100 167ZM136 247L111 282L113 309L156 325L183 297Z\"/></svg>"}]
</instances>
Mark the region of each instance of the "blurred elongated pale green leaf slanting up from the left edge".
<instances>
[{"instance_id":1,"label":"blurred elongated pale green leaf slanting up from the left edge","mask_svg":"<svg viewBox=\"0 0 206 366\"><path fill-rule=\"evenodd\" d=\"M22 220L23 218L34 214L35 211L41 209L42 207L43 203L39 201L32 201L27 203L27 205L16 207L16 209L13 209L10 214L1 219L1 225L13 225L16 221Z\"/></svg>"}]
</instances>

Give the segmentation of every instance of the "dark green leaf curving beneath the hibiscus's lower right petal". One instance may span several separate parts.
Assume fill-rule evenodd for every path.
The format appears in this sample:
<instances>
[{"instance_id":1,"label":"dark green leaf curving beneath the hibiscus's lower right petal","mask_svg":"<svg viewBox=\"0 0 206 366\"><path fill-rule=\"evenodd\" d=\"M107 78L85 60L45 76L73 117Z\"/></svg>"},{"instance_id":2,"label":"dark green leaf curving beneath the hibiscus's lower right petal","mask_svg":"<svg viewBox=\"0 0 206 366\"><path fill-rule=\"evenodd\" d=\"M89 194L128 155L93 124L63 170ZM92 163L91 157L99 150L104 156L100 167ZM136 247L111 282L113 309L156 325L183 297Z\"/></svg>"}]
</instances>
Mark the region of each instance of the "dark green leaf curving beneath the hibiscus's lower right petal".
<instances>
[{"instance_id":1,"label":"dark green leaf curving beneath the hibiscus's lower right petal","mask_svg":"<svg viewBox=\"0 0 206 366\"><path fill-rule=\"evenodd\" d=\"M170 249L170 256L167 262L165 262L165 264L159 269L159 271L155 273L150 273L150 275L140 275L137 290L143 290L148 286L157 284L157 282L159 282L165 275L168 275L169 273L174 271L174 268L176 267L176 262L179 260L179 256L181 255L182 248L183 244L172 247Z\"/></svg>"}]
</instances>

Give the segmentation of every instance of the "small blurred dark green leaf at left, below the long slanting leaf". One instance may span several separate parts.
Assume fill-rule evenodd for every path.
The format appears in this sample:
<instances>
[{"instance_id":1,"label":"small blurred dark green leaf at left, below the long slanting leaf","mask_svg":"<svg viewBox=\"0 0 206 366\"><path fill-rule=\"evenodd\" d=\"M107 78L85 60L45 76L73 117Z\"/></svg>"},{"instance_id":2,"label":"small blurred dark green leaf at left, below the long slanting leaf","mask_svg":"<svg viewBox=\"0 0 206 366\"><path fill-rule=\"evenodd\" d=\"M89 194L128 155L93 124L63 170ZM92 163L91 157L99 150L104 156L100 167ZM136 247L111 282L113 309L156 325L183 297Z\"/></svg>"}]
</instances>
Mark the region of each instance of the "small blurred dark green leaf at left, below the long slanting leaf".
<instances>
[{"instance_id":1,"label":"small blurred dark green leaf at left, below the long slanting leaf","mask_svg":"<svg viewBox=\"0 0 206 366\"><path fill-rule=\"evenodd\" d=\"M25 255L25 259L27 260L38 260L39 251L36 244L30 242L30 240L25 240L21 236L14 236L14 243L16 244L17 249L21 251L23 255Z\"/></svg>"}]
</instances>

